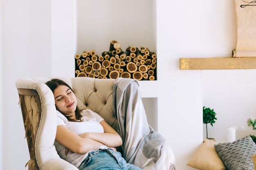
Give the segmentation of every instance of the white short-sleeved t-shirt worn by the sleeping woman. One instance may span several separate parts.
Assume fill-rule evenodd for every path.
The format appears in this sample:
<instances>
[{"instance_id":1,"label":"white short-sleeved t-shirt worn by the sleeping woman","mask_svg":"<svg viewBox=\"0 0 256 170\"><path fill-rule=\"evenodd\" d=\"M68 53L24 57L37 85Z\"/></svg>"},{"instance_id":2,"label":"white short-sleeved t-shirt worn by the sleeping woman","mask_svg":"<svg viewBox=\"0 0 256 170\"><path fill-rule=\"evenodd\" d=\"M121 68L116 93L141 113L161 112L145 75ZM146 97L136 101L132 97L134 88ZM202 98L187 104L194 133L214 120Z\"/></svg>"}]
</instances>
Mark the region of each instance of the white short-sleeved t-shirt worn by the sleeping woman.
<instances>
[{"instance_id":1,"label":"white short-sleeved t-shirt worn by the sleeping woman","mask_svg":"<svg viewBox=\"0 0 256 170\"><path fill-rule=\"evenodd\" d=\"M93 112L92 110L85 109L81 112L83 121L81 122L72 122L68 121L67 118L62 115L57 110L57 126L65 125L69 130L74 132L76 135L81 135L85 132L95 132L95 133L103 133L104 129L99 122L103 121L104 119L98 115L97 113ZM77 154L77 153L68 153L67 156L65 155L65 146L62 146L57 141L54 141L54 146L58 152L58 155L69 163L73 164L77 168L80 166L82 161L88 156L88 153L85 154ZM104 147L105 148L105 147Z\"/></svg>"}]
</instances>

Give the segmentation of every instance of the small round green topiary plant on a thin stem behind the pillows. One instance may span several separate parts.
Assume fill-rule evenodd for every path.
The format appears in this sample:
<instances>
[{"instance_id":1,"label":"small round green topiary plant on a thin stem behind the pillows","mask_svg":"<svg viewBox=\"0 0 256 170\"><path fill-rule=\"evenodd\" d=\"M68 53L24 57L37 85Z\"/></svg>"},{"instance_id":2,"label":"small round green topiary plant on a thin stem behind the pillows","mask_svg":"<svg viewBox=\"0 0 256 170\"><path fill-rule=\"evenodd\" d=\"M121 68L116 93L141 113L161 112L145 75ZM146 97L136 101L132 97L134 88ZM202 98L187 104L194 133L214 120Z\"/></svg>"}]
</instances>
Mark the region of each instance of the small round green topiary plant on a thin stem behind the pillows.
<instances>
[{"instance_id":1,"label":"small round green topiary plant on a thin stem behind the pillows","mask_svg":"<svg viewBox=\"0 0 256 170\"><path fill-rule=\"evenodd\" d=\"M215 123L215 120L217 120L215 115L216 115L216 113L213 111L213 109L205 108L205 106L203 107L203 123L206 124L206 138L207 139L212 139L212 138L208 138L207 124L210 124L211 126L213 126L213 124Z\"/></svg>"}]
</instances>

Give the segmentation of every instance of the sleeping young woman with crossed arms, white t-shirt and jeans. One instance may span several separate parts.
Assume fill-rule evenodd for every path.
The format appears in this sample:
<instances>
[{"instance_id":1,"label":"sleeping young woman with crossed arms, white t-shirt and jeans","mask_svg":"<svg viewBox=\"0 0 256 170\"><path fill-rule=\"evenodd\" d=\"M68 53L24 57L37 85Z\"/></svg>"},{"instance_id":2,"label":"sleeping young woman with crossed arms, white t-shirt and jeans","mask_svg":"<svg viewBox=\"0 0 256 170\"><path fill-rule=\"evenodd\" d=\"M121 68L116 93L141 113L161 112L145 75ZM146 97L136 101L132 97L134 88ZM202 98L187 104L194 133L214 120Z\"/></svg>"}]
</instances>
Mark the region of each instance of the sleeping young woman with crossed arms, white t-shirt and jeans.
<instances>
[{"instance_id":1,"label":"sleeping young woman with crossed arms, white t-shirt and jeans","mask_svg":"<svg viewBox=\"0 0 256 170\"><path fill-rule=\"evenodd\" d=\"M54 146L61 158L79 170L141 170L126 163L116 147L122 139L104 119L92 110L79 112L76 96L60 79L46 82L52 90L57 109Z\"/></svg>"}]
</instances>

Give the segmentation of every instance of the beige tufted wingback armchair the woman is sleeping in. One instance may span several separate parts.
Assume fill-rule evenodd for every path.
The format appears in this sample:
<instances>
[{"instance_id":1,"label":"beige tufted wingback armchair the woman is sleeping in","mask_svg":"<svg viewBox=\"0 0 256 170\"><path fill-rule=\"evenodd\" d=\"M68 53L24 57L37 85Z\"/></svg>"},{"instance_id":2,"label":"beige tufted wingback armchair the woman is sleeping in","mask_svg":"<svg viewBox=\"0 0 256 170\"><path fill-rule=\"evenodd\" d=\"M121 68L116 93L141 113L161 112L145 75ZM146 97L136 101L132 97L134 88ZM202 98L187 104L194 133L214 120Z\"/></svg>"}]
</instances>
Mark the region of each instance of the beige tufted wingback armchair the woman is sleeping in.
<instances>
[{"instance_id":1,"label":"beige tufted wingback armchair the woman is sleeping in","mask_svg":"<svg viewBox=\"0 0 256 170\"><path fill-rule=\"evenodd\" d=\"M76 94L79 110L90 109L98 113L117 130L113 113L112 87L115 79L89 77L52 77L62 79ZM77 170L61 159L54 147L56 135L56 108L52 91L45 82L51 78L20 78L16 88L29 147L29 170Z\"/></svg>"}]
</instances>

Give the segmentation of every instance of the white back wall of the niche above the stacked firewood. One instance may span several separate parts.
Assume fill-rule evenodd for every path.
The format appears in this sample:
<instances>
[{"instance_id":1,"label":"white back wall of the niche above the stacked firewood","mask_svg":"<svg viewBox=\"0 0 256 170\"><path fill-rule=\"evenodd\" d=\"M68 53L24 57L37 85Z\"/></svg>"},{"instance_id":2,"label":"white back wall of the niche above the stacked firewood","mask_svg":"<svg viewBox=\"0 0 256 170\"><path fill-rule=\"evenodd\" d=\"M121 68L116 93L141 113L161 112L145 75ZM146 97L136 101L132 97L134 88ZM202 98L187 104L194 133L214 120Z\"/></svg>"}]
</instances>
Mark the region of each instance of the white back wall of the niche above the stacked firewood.
<instances>
[{"instance_id":1,"label":"white back wall of the niche above the stacked firewood","mask_svg":"<svg viewBox=\"0 0 256 170\"><path fill-rule=\"evenodd\" d=\"M95 50L100 56L111 40L123 51L129 45L155 51L152 8L152 0L77 0L77 53Z\"/></svg>"}]
</instances>

